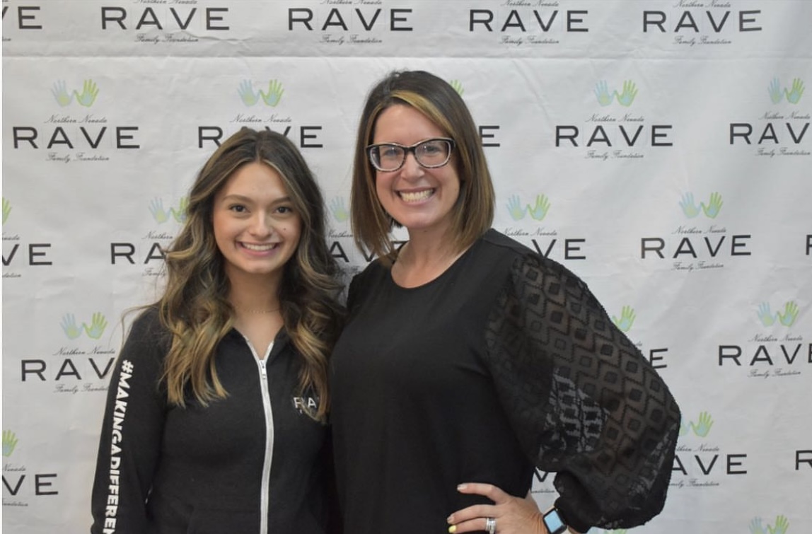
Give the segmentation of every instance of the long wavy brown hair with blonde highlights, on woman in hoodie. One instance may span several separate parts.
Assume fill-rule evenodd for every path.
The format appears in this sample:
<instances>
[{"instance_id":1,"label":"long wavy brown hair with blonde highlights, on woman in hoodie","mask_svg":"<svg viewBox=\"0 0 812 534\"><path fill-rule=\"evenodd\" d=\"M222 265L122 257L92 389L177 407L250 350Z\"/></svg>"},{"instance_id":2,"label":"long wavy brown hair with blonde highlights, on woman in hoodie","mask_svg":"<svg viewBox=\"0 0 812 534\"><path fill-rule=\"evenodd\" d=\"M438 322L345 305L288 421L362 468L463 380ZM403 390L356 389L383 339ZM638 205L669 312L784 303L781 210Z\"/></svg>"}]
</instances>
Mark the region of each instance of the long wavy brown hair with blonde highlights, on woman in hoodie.
<instances>
[{"instance_id":1,"label":"long wavy brown hair with blonde highlights, on woman in hoodie","mask_svg":"<svg viewBox=\"0 0 812 534\"><path fill-rule=\"evenodd\" d=\"M162 324L171 333L163 379L170 403L185 406L191 393L206 406L227 391L217 376L214 354L233 326L230 284L214 240L214 196L232 174L259 161L282 177L301 218L296 252L284 265L280 312L302 358L300 391L320 399L314 419L325 420L330 406L327 359L338 338L343 308L339 268L326 245L324 201L313 173L296 145L274 131L244 127L209 157L189 193L186 223L166 253L166 289L158 300Z\"/></svg>"}]
</instances>

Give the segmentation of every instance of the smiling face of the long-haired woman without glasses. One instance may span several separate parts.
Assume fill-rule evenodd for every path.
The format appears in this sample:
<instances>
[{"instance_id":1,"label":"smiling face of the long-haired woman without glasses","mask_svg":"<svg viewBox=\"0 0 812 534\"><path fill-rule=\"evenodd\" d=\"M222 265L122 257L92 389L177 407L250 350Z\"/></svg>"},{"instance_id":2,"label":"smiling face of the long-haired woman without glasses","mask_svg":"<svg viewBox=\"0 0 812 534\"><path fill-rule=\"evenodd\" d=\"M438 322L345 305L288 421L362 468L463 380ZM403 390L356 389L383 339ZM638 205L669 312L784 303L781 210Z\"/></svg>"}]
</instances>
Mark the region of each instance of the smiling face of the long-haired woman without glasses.
<instances>
[{"instance_id":1,"label":"smiling face of the long-haired woman without glasses","mask_svg":"<svg viewBox=\"0 0 812 534\"><path fill-rule=\"evenodd\" d=\"M237 169L217 192L212 221L232 282L246 277L279 281L301 235L301 219L282 177L258 161Z\"/></svg>"}]
</instances>

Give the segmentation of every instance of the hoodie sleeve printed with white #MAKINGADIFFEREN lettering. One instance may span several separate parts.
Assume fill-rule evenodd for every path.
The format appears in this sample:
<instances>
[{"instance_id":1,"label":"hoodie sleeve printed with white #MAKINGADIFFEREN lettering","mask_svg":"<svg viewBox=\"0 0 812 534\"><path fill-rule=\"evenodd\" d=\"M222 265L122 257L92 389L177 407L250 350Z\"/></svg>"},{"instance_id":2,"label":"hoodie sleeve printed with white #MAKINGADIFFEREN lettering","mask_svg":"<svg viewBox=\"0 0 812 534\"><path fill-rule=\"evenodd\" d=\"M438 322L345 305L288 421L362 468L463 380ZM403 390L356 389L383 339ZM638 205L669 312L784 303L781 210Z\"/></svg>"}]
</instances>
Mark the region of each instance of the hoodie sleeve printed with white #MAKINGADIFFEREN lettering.
<instances>
[{"instance_id":1,"label":"hoodie sleeve printed with white #MAKINGADIFFEREN lettering","mask_svg":"<svg viewBox=\"0 0 812 534\"><path fill-rule=\"evenodd\" d=\"M148 532L145 504L160 457L166 399L158 388L162 338L150 309L136 319L110 378L91 497L92 534Z\"/></svg>"}]
</instances>

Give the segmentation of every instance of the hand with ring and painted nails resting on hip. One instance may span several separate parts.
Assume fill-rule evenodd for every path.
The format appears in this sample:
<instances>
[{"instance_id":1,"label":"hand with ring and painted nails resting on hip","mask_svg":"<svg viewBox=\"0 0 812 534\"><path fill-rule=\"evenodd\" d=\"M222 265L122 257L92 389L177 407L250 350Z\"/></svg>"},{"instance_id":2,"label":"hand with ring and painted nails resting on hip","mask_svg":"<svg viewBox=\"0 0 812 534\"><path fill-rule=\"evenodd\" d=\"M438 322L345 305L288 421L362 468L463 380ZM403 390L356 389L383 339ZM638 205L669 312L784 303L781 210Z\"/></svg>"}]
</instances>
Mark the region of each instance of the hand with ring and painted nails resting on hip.
<instances>
[{"instance_id":1,"label":"hand with ring and painted nails resting on hip","mask_svg":"<svg viewBox=\"0 0 812 534\"><path fill-rule=\"evenodd\" d=\"M498 534L546 534L542 513L533 497L513 497L493 484L460 484L460 493L475 493L488 497L494 504L477 504L457 510L448 516L448 532L488 532L487 520L496 520L493 532Z\"/></svg>"}]
</instances>

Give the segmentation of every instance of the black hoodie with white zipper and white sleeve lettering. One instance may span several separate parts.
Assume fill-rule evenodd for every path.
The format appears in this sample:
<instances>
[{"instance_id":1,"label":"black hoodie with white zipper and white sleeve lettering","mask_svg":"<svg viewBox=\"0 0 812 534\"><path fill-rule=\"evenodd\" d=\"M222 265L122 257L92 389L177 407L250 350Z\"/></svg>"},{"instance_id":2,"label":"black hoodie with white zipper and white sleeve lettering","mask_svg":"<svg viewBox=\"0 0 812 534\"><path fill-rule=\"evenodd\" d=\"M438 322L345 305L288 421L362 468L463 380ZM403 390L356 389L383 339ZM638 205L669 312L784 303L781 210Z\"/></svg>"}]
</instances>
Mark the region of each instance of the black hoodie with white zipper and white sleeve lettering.
<instances>
[{"instance_id":1,"label":"black hoodie with white zipper and white sleeve lettering","mask_svg":"<svg viewBox=\"0 0 812 534\"><path fill-rule=\"evenodd\" d=\"M134 322L107 395L92 534L324 534L332 489L328 428L304 413L300 355L280 332L260 360L232 329L215 362L227 398L166 402L170 343L148 308Z\"/></svg>"}]
</instances>

